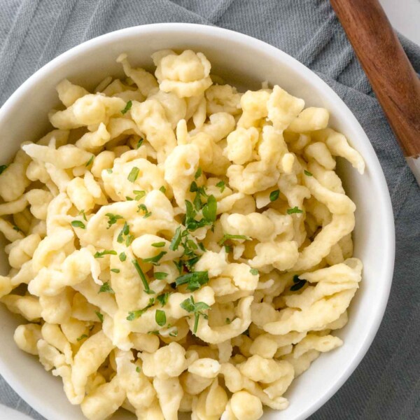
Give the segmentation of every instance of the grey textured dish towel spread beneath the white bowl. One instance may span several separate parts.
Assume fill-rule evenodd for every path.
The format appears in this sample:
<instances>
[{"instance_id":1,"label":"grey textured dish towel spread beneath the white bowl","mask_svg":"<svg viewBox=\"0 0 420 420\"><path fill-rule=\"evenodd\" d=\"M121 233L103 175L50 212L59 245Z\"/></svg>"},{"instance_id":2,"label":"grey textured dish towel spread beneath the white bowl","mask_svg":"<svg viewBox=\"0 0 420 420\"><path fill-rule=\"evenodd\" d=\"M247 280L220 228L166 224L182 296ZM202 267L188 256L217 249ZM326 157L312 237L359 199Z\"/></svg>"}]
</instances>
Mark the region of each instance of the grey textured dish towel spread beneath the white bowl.
<instances>
[{"instance_id":1,"label":"grey textured dish towel spread beneath the white bowl","mask_svg":"<svg viewBox=\"0 0 420 420\"><path fill-rule=\"evenodd\" d=\"M420 189L328 0L2 0L0 104L34 71L74 45L155 22L218 25L275 45L316 71L356 115L391 193L395 274L370 351L310 419L420 419ZM419 73L420 49L402 42ZM375 211L380 209L372 202ZM1 377L0 403L43 419Z\"/></svg>"}]
</instances>

